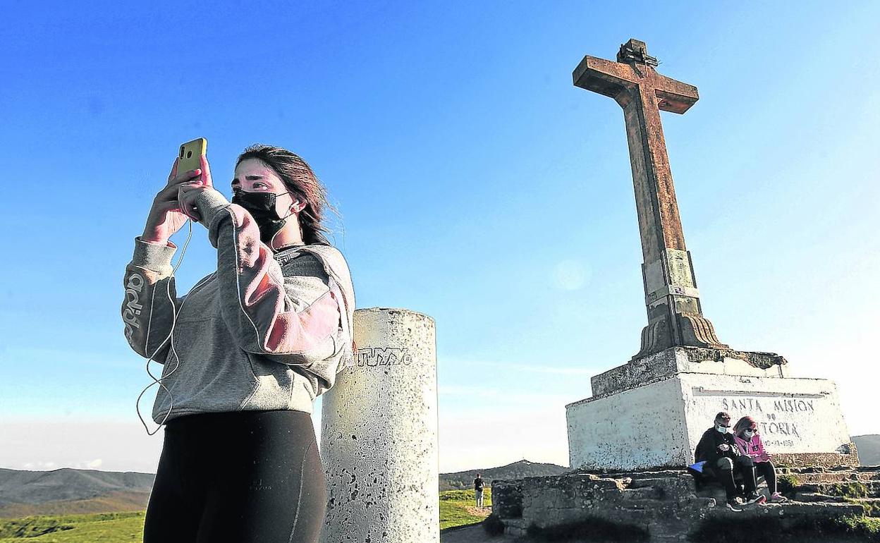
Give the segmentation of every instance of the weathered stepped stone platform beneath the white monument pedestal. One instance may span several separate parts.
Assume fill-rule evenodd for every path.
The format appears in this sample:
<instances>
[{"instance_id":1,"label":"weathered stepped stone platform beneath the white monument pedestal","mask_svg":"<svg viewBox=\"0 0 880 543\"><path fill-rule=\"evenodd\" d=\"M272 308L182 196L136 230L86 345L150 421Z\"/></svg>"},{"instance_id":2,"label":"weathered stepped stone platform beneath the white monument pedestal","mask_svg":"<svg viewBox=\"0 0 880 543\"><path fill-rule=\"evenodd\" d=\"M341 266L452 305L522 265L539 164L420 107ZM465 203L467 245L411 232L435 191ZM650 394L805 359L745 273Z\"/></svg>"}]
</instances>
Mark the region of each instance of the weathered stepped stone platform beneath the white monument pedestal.
<instances>
[{"instance_id":1,"label":"weathered stepped stone platform beneath the white monument pedestal","mask_svg":"<svg viewBox=\"0 0 880 543\"><path fill-rule=\"evenodd\" d=\"M756 504L738 512L723 506L720 487L698 490L693 478L680 470L568 473L495 481L493 513L502 520L505 532L517 536L525 535L530 526L532 530L546 530L580 523L589 529L593 523L640 530L648 534L646 540L651 542L680 541L719 518L739 518L745 521L744 526L749 519L781 519L784 527L804 519L815 523L863 516L862 503L847 503L842 498L818 493L822 488L831 488L835 481L866 481L870 492L880 492L880 474L876 471L817 468L796 475L805 482L795 492L805 495L803 490L810 490L810 503ZM862 501L876 500L872 496Z\"/></svg>"}]
</instances>

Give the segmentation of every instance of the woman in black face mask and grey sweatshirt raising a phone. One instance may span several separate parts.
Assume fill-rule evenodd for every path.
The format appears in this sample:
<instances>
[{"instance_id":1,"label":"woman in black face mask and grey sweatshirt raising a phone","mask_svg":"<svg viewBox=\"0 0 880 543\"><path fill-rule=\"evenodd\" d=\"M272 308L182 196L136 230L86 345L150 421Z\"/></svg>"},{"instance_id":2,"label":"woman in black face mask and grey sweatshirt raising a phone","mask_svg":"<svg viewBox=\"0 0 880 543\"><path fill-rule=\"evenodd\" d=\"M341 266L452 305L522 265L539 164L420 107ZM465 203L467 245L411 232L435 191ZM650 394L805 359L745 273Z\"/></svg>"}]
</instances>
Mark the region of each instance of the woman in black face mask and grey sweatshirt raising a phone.
<instances>
[{"instance_id":1,"label":"woman in black face mask and grey sweatshirt raising a phone","mask_svg":"<svg viewBox=\"0 0 880 543\"><path fill-rule=\"evenodd\" d=\"M324 235L333 207L289 150L246 149L231 202L207 158L177 164L124 278L128 343L164 364L143 541L316 542L326 481L312 402L356 352L348 264ZM216 270L177 297L169 238L187 218L207 228Z\"/></svg>"}]
</instances>

